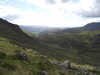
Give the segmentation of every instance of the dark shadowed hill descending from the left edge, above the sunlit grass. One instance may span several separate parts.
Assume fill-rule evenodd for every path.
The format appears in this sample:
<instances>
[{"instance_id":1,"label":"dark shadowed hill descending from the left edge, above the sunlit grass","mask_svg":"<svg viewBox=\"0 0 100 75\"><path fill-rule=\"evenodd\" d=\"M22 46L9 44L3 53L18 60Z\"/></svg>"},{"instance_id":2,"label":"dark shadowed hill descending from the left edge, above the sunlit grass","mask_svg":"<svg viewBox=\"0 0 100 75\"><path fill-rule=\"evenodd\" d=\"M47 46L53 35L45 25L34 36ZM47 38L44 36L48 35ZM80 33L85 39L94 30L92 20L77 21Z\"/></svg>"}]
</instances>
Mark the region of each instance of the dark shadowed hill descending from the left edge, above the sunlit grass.
<instances>
[{"instance_id":1,"label":"dark shadowed hill descending from the left edge, above the sunlit grass","mask_svg":"<svg viewBox=\"0 0 100 75\"><path fill-rule=\"evenodd\" d=\"M11 24L4 19L0 19L0 36L10 39L12 43L23 47L33 47L34 42L37 42L35 37L32 38L25 34L18 25Z\"/></svg>"}]
</instances>

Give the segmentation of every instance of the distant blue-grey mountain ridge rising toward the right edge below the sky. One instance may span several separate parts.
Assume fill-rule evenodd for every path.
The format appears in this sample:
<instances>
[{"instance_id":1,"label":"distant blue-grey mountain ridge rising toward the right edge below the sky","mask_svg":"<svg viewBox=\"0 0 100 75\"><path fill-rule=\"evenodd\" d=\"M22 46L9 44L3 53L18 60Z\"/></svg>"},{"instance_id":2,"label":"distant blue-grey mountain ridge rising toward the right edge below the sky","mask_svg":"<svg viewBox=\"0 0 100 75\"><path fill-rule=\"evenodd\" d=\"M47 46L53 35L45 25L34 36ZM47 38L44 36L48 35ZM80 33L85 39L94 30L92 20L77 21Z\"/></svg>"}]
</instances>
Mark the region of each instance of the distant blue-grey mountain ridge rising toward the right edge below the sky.
<instances>
[{"instance_id":1,"label":"distant blue-grey mountain ridge rising toward the right edge below the sky","mask_svg":"<svg viewBox=\"0 0 100 75\"><path fill-rule=\"evenodd\" d=\"M88 23L83 27L75 27L75 28L62 28L62 29L54 29L54 30L48 30L43 31L40 33L40 35L45 34L63 34L63 33L76 33L76 32L82 32L82 31L99 31L100 30L100 22L92 22Z\"/></svg>"}]
</instances>

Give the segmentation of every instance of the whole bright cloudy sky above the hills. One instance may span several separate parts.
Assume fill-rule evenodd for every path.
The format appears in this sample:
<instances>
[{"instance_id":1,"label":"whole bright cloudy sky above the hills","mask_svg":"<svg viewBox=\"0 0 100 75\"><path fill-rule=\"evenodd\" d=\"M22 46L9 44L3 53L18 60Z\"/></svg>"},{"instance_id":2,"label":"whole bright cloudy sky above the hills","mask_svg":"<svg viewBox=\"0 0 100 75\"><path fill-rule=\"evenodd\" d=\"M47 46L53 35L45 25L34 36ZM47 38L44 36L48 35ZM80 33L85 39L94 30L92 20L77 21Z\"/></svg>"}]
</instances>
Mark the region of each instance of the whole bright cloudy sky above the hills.
<instances>
[{"instance_id":1,"label":"whole bright cloudy sky above the hills","mask_svg":"<svg viewBox=\"0 0 100 75\"><path fill-rule=\"evenodd\" d=\"M0 18L24 26L80 27L100 22L100 0L0 0Z\"/></svg>"}]
</instances>

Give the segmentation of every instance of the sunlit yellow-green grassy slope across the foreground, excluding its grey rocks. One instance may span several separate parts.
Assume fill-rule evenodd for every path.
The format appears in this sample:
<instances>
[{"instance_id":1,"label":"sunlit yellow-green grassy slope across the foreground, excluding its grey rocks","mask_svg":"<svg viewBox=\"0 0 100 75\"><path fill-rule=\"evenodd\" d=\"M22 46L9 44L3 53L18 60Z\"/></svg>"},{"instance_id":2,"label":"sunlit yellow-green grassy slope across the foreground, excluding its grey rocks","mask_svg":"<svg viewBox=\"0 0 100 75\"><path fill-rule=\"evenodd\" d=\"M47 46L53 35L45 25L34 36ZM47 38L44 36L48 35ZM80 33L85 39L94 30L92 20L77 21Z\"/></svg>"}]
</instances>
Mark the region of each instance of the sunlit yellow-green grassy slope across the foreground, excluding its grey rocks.
<instances>
[{"instance_id":1,"label":"sunlit yellow-green grassy slope across the foreground, excluding its grey rocks","mask_svg":"<svg viewBox=\"0 0 100 75\"><path fill-rule=\"evenodd\" d=\"M28 55L30 62L16 58L16 52L24 52ZM72 63L72 69L64 70L58 65L52 64L55 59L44 59L40 54L32 49L23 49L18 45L10 43L10 40L0 37L0 75L40 75L41 71L46 71L48 75L85 75L89 71L90 75L99 75L99 69L89 65L79 65Z\"/></svg>"}]
</instances>

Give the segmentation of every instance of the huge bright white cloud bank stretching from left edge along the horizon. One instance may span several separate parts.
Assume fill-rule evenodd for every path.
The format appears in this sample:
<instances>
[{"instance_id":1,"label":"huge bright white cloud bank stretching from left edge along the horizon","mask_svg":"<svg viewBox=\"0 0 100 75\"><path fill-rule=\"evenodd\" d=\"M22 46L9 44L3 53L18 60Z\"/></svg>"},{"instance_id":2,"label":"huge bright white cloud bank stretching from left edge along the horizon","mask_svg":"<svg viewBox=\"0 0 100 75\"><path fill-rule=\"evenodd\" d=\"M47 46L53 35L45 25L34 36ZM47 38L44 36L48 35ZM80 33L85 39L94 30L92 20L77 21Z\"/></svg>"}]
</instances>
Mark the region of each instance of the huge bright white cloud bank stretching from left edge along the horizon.
<instances>
[{"instance_id":1,"label":"huge bright white cloud bank stretching from left edge along the horizon","mask_svg":"<svg viewBox=\"0 0 100 75\"><path fill-rule=\"evenodd\" d=\"M47 25L51 27L74 27L82 24L83 19L74 14L77 10L72 1L67 3L54 0L55 4L47 4L46 0L28 0L30 4L37 5L41 11L20 10L10 5L0 6L0 16L19 25ZM65 2L65 1L64 1ZM73 9L73 10L72 10ZM77 19L76 19L77 18ZM80 22L79 19L80 18ZM73 21L73 22L72 22Z\"/></svg>"}]
</instances>

